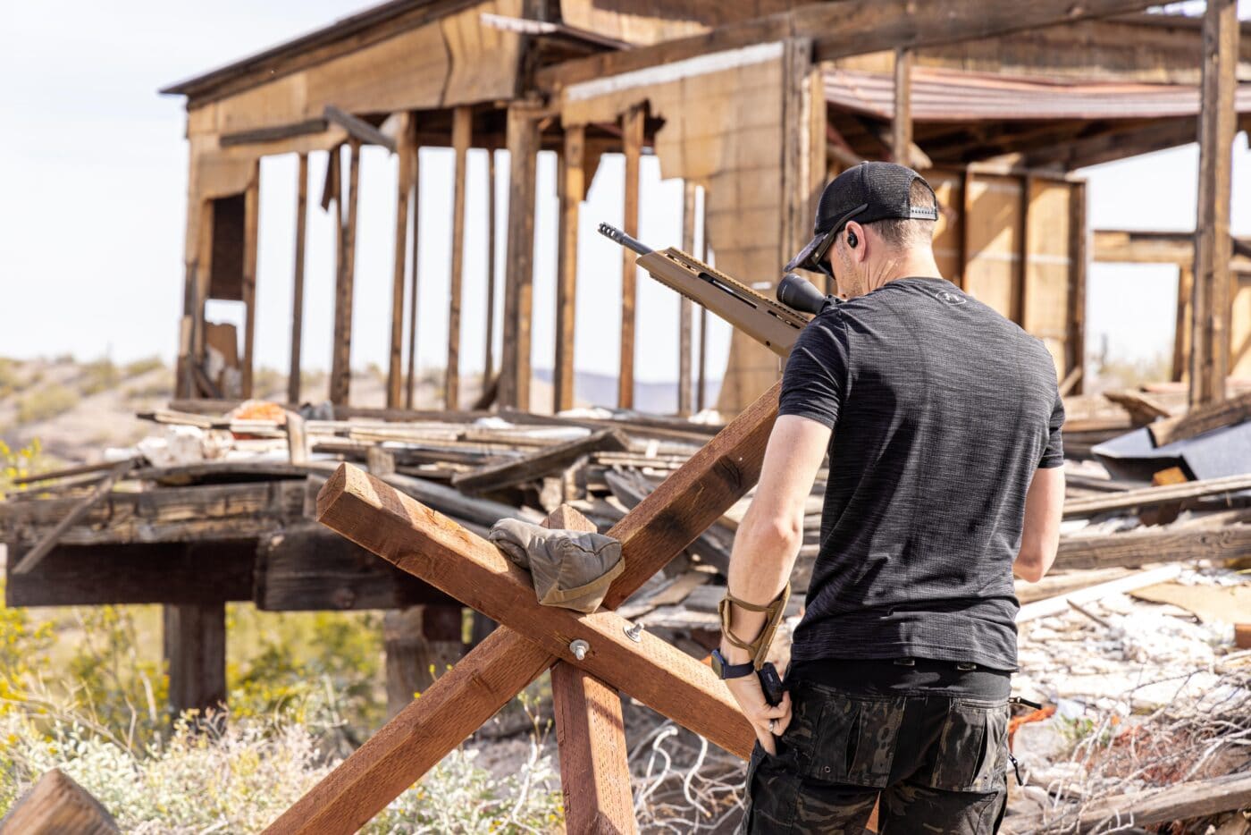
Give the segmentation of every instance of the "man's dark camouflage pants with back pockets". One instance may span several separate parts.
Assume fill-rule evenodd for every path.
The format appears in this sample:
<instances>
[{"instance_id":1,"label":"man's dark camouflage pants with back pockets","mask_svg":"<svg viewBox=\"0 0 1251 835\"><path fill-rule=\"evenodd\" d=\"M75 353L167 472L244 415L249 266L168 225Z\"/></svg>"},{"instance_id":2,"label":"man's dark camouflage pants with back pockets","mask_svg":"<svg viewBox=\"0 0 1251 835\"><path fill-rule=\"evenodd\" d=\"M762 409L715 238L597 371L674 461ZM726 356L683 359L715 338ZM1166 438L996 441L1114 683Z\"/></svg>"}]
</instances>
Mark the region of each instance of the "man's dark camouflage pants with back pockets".
<instances>
[{"instance_id":1,"label":"man's dark camouflage pants with back pockets","mask_svg":"<svg viewBox=\"0 0 1251 835\"><path fill-rule=\"evenodd\" d=\"M747 769L741 831L861 835L996 832L1007 801L1006 700L843 692L797 681L771 756Z\"/></svg>"}]
</instances>

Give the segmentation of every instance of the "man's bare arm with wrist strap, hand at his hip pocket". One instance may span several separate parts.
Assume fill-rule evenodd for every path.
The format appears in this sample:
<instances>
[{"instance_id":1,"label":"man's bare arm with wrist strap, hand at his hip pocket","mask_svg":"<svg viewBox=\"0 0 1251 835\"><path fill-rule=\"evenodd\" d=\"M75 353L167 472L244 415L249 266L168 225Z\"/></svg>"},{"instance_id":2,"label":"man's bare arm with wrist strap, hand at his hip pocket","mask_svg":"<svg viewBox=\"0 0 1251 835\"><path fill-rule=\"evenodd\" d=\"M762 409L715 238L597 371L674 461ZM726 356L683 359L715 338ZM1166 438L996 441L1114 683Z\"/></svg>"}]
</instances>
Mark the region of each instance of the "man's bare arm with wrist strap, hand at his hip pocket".
<instances>
[{"instance_id":1,"label":"man's bare arm with wrist strap, hand at his hip pocket","mask_svg":"<svg viewBox=\"0 0 1251 835\"><path fill-rule=\"evenodd\" d=\"M786 587L803 545L803 510L826 457L829 434L823 423L793 414L783 414L773 424L756 496L734 535L728 578L728 591L734 597L764 606ZM731 606L729 628L749 643L764 628L764 613ZM724 636L721 652L731 663L751 660L747 650L731 645ZM773 734L784 731L791 721L789 697L771 707L756 676L731 679L727 685L754 726L761 745L772 754ZM769 720L776 720L772 732Z\"/></svg>"}]
</instances>

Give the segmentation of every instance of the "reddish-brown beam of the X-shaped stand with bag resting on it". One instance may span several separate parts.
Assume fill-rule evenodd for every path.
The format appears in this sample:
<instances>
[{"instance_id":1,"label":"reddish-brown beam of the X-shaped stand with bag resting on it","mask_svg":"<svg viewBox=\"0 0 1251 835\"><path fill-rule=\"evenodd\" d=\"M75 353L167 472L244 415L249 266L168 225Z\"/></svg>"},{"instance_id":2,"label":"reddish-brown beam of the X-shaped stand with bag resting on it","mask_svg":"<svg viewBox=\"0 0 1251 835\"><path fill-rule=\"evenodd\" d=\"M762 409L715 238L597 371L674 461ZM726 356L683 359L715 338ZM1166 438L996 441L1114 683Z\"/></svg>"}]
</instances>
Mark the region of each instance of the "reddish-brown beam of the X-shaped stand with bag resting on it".
<instances>
[{"instance_id":1,"label":"reddish-brown beam of the X-shaped stand with bag resting on it","mask_svg":"<svg viewBox=\"0 0 1251 835\"><path fill-rule=\"evenodd\" d=\"M318 521L709 742L749 754L754 734L711 669L648 632L632 640L631 622L615 612L539 605L529 572L499 548L359 467L340 464L327 481ZM582 658L570 650L575 640L590 647Z\"/></svg>"}]
</instances>

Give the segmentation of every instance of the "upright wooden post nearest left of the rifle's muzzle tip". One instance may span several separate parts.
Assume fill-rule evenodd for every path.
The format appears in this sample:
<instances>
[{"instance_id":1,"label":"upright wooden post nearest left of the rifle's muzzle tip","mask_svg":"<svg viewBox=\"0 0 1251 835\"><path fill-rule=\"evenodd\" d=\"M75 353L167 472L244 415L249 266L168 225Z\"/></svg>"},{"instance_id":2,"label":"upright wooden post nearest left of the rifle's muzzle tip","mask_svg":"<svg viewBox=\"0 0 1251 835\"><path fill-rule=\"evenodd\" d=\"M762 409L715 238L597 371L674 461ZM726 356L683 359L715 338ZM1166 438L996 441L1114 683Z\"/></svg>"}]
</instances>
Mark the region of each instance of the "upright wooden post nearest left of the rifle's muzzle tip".
<instances>
[{"instance_id":1,"label":"upright wooden post nearest left of the rifle's muzzle tip","mask_svg":"<svg viewBox=\"0 0 1251 835\"><path fill-rule=\"evenodd\" d=\"M560 249L555 285L555 387L553 408L573 408L573 341L578 295L578 208L585 195L585 128L564 129L560 155Z\"/></svg>"}]
</instances>

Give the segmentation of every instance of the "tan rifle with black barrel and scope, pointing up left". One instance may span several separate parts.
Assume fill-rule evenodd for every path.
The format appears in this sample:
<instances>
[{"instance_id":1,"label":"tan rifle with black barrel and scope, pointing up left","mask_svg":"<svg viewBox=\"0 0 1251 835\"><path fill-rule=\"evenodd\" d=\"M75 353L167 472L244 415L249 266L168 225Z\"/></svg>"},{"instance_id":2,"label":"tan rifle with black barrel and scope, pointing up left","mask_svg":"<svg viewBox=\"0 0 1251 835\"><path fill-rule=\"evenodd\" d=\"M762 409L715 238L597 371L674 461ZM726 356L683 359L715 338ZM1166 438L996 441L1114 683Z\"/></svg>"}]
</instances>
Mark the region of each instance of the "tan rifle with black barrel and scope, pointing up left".
<instances>
[{"instance_id":1,"label":"tan rifle with black barrel and scope, pointing up left","mask_svg":"<svg viewBox=\"0 0 1251 835\"><path fill-rule=\"evenodd\" d=\"M607 223L599 224L599 234L638 253L636 263L652 278L704 305L779 357L789 356L811 317L834 302L791 273L778 284L778 298L784 304L778 303L681 249L652 249Z\"/></svg>"}]
</instances>

